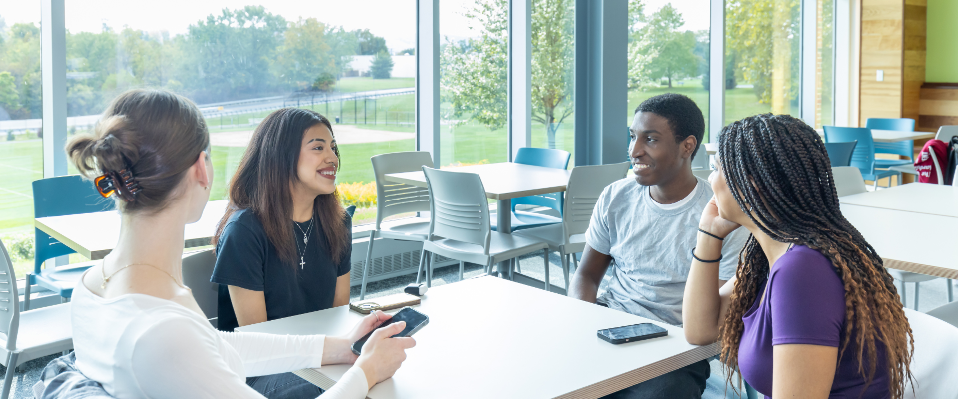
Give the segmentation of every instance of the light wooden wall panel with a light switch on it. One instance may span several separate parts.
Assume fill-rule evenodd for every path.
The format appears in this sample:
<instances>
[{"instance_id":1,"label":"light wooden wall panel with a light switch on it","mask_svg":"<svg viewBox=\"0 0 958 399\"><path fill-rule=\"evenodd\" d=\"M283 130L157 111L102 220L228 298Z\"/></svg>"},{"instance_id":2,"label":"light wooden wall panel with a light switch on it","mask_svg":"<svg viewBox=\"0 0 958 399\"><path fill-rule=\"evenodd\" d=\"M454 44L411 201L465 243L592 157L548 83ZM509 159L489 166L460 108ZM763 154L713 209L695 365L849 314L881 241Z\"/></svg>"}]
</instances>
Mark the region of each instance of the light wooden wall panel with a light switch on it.
<instances>
[{"instance_id":1,"label":"light wooden wall panel with a light switch on it","mask_svg":"<svg viewBox=\"0 0 958 399\"><path fill-rule=\"evenodd\" d=\"M861 126L869 118L901 118L904 22L903 0L861 1Z\"/></svg>"}]
</instances>

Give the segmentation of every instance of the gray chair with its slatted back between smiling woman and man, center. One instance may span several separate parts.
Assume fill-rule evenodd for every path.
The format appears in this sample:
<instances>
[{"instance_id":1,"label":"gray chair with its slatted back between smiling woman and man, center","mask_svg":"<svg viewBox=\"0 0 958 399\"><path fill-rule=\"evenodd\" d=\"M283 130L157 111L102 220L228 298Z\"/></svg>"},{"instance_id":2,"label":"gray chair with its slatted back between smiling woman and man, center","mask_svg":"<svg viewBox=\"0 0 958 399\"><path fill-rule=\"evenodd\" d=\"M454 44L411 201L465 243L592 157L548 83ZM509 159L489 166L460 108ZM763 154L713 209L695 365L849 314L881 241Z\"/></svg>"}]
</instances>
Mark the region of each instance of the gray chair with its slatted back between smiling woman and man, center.
<instances>
[{"instance_id":1,"label":"gray chair with its slatted back between smiling woman and man, center","mask_svg":"<svg viewBox=\"0 0 958 399\"><path fill-rule=\"evenodd\" d=\"M460 262L486 265L486 271L489 273L495 263L536 251L546 251L548 270L548 244L491 230L486 188L478 174L428 166L422 166L422 171L425 172L426 184L429 187L429 235L422 243L416 282L420 282L422 277L427 252L430 257L443 255ZM432 285L433 262L428 263L425 265L427 286ZM546 284L548 287L548 279Z\"/></svg>"}]
</instances>

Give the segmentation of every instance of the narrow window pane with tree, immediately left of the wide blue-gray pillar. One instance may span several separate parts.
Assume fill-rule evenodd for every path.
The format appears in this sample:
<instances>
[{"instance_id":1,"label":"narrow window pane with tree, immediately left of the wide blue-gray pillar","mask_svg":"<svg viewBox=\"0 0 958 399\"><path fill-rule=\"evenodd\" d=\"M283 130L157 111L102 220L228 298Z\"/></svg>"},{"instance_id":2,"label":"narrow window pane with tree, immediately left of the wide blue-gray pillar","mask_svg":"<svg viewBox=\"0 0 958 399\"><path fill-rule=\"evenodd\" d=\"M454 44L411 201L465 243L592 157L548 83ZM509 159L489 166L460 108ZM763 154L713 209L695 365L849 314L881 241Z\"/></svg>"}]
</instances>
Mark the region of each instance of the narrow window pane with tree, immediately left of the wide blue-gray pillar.
<instances>
[{"instance_id":1,"label":"narrow window pane with tree, immediately left of the wide blue-gray pillar","mask_svg":"<svg viewBox=\"0 0 958 399\"><path fill-rule=\"evenodd\" d=\"M575 153L575 1L532 5L532 146Z\"/></svg>"}]
</instances>

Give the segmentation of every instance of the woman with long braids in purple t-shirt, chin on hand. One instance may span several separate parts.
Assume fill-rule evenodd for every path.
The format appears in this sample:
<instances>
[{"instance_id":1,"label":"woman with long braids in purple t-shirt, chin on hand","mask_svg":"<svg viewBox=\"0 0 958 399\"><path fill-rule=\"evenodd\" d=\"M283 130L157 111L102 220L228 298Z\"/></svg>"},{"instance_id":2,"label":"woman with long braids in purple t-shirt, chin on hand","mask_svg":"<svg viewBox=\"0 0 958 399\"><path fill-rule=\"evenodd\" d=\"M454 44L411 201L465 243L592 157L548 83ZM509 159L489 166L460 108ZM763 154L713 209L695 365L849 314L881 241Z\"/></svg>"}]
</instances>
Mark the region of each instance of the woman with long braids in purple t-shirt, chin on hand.
<instances>
[{"instance_id":1,"label":"woman with long braids in purple t-shirt, chin on hand","mask_svg":"<svg viewBox=\"0 0 958 399\"><path fill-rule=\"evenodd\" d=\"M787 115L722 129L682 316L686 340L775 398L902 397L912 334L881 258L841 214L818 134ZM719 287L722 239L750 233ZM731 378L731 377L729 377Z\"/></svg>"}]
</instances>

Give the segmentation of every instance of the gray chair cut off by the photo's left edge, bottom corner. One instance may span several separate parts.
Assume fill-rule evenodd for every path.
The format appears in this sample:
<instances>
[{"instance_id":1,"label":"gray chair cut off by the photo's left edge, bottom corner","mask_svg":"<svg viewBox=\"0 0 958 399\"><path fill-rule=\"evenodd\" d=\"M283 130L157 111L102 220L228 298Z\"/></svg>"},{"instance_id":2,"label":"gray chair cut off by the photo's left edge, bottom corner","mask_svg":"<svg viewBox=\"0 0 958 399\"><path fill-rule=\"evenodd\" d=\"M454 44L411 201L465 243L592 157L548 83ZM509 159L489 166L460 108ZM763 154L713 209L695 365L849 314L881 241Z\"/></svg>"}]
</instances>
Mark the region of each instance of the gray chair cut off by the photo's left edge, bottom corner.
<instances>
[{"instance_id":1,"label":"gray chair cut off by the photo's left edge, bottom corner","mask_svg":"<svg viewBox=\"0 0 958 399\"><path fill-rule=\"evenodd\" d=\"M0 399L10 397L16 366L73 348L70 302L20 312L16 274L0 241L0 364L7 366Z\"/></svg>"}]
</instances>

